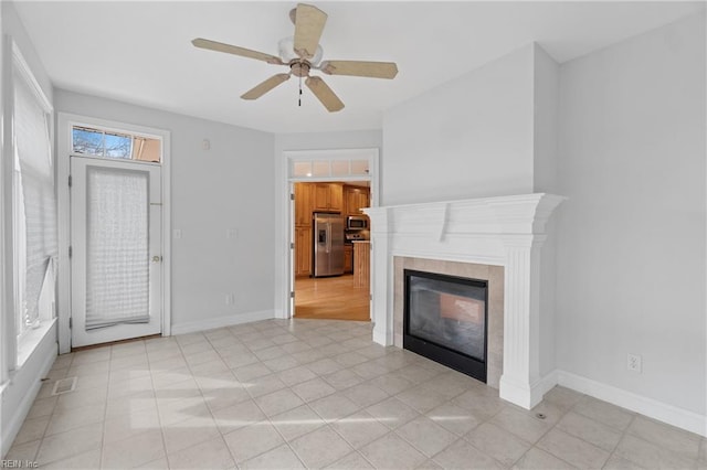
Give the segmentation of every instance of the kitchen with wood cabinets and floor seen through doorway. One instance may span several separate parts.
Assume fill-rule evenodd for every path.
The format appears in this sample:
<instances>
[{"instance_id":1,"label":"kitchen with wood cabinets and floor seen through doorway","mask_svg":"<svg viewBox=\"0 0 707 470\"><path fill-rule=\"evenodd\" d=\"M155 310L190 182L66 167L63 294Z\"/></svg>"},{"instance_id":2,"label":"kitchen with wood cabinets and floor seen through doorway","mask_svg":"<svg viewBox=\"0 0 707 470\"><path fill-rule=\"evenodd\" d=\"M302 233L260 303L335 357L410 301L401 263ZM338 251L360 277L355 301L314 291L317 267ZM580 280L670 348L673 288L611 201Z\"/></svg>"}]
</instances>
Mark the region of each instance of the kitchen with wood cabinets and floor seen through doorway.
<instances>
[{"instance_id":1,"label":"kitchen with wood cabinets and floor seen through doorway","mask_svg":"<svg viewBox=\"0 0 707 470\"><path fill-rule=\"evenodd\" d=\"M370 202L369 181L294 183L295 318L370 321Z\"/></svg>"}]
</instances>

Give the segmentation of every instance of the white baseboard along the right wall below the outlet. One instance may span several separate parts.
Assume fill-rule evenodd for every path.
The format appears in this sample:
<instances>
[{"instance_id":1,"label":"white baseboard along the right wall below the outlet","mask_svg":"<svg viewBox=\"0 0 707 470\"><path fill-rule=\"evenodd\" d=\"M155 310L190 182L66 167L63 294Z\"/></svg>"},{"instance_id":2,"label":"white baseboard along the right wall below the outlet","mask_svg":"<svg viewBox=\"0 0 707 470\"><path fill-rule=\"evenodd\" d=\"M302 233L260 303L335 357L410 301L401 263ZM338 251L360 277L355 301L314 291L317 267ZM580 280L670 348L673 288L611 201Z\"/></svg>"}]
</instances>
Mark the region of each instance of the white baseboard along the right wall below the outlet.
<instances>
[{"instance_id":1,"label":"white baseboard along the right wall below the outlet","mask_svg":"<svg viewBox=\"0 0 707 470\"><path fill-rule=\"evenodd\" d=\"M591 378L556 371L559 385L609 402L658 421L707 437L707 416L626 392Z\"/></svg>"}]
</instances>

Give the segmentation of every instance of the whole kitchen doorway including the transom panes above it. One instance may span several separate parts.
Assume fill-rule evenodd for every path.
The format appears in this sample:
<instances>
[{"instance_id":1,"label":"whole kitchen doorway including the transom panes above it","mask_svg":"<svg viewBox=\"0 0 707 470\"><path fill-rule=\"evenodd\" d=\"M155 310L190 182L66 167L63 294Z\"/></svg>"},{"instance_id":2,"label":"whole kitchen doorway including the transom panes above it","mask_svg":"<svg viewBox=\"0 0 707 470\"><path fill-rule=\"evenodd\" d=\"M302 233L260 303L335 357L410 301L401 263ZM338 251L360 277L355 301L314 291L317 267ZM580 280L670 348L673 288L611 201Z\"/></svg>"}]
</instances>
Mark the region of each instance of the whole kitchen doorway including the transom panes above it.
<instances>
[{"instance_id":1,"label":"whole kitchen doorway including the transom panes above it","mask_svg":"<svg viewBox=\"0 0 707 470\"><path fill-rule=\"evenodd\" d=\"M378 149L284 153L291 194L287 318L369 321L370 227L361 210L378 205Z\"/></svg>"}]
</instances>

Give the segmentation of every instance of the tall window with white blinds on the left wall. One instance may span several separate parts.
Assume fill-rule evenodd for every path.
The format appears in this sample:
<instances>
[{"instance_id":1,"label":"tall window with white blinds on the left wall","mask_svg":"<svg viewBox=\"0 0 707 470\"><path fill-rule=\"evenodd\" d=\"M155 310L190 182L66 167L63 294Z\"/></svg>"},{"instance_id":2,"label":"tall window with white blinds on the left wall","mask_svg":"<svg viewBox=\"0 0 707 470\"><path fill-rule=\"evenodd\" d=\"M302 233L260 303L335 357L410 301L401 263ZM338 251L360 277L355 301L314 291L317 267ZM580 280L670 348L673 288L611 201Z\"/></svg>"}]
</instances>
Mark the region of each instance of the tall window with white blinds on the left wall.
<instances>
[{"instance_id":1,"label":"tall window with white blinds on the left wall","mask_svg":"<svg viewBox=\"0 0 707 470\"><path fill-rule=\"evenodd\" d=\"M18 338L52 317L56 257L56 195L51 105L19 51L12 62L12 226ZM46 305L46 299L50 303Z\"/></svg>"}]
</instances>

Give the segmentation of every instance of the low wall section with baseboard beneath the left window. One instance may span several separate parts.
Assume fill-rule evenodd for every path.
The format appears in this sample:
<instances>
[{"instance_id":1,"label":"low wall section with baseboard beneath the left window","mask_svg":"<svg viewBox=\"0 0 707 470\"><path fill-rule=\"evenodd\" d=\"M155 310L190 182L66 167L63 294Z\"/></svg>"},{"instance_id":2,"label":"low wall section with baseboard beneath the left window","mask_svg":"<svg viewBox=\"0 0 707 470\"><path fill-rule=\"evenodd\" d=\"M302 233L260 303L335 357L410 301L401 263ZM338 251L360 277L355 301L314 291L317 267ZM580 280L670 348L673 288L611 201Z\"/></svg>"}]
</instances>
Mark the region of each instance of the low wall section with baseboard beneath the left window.
<instances>
[{"instance_id":1,"label":"low wall section with baseboard beneath the left window","mask_svg":"<svg viewBox=\"0 0 707 470\"><path fill-rule=\"evenodd\" d=\"M27 415L30 413L34 398L42 386L42 377L49 374L56 360L56 352L59 351L56 329L51 329L50 331L53 332L53 338L48 334L42 339L24 362L22 368L14 373L11 382L2 389L2 415L10 415L8 418L2 417L3 457L10 450L12 441L14 441ZM7 408L6 404L8 405Z\"/></svg>"}]
</instances>

